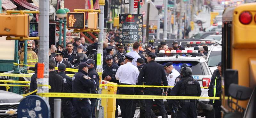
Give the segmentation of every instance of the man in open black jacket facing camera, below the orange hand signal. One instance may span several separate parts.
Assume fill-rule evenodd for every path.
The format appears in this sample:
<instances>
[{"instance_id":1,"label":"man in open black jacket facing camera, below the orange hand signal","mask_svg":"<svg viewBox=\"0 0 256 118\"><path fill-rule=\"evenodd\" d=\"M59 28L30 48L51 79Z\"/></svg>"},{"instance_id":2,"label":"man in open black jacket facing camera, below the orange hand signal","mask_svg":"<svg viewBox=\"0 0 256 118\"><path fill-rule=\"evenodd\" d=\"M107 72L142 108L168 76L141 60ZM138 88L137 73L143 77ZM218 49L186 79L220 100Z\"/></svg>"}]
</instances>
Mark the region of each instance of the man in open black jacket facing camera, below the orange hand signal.
<instances>
[{"instance_id":1,"label":"man in open black jacket facing camera, below the orange hand signal","mask_svg":"<svg viewBox=\"0 0 256 118\"><path fill-rule=\"evenodd\" d=\"M77 47L76 47L77 49ZM77 53L77 51L74 49L74 46L71 42L69 42L67 44L67 49L63 50L62 52L64 52L64 56L63 58L66 61L69 61L73 68L78 68L80 61L80 55Z\"/></svg>"}]
</instances>

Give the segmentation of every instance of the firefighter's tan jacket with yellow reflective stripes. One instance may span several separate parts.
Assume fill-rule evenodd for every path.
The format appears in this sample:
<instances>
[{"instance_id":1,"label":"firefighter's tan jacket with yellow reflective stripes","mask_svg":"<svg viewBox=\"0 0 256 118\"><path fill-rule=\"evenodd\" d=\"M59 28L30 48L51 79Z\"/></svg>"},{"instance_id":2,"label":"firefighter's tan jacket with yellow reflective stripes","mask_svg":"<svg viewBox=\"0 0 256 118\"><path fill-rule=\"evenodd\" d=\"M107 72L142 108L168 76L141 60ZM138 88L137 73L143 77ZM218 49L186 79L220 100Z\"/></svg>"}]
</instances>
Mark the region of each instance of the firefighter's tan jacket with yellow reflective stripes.
<instances>
[{"instance_id":1,"label":"firefighter's tan jacket with yellow reflective stripes","mask_svg":"<svg viewBox=\"0 0 256 118\"><path fill-rule=\"evenodd\" d=\"M38 61L37 55L35 52L33 52L32 48L28 48L28 53L27 53L27 64L28 65L35 65ZM20 54L20 64L24 64L24 52ZM23 67L20 65L20 67ZM33 73L33 70L28 70L28 73Z\"/></svg>"}]
</instances>

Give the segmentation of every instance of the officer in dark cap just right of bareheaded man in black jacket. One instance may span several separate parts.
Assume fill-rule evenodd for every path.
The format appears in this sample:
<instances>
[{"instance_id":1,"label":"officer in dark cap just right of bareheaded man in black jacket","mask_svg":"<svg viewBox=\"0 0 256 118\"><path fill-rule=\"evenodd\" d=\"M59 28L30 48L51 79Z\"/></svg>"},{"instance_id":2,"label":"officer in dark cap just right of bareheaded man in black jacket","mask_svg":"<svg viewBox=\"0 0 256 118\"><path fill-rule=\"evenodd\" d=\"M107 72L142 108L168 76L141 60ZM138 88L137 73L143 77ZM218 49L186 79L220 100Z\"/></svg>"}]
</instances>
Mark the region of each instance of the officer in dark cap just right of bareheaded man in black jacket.
<instances>
[{"instance_id":1,"label":"officer in dark cap just right of bareheaded man in black jacket","mask_svg":"<svg viewBox=\"0 0 256 118\"><path fill-rule=\"evenodd\" d=\"M66 73L66 65L64 63L60 63L58 67L58 75L63 77L64 80L64 91L67 93L72 93L72 79L67 76ZM72 98L61 98L61 111L63 112L64 118L72 117L73 105L71 102Z\"/></svg>"}]
</instances>

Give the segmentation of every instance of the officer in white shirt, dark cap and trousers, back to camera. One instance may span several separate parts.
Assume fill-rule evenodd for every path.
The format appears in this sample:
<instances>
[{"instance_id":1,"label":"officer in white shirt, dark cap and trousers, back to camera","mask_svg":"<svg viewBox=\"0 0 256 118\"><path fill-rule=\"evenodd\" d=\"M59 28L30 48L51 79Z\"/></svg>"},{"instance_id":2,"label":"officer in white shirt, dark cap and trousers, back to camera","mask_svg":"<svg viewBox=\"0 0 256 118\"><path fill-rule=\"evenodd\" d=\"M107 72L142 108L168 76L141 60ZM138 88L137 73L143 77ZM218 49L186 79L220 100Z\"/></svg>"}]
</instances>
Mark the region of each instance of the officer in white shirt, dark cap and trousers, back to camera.
<instances>
[{"instance_id":1,"label":"officer in white shirt, dark cap and trousers, back to camera","mask_svg":"<svg viewBox=\"0 0 256 118\"><path fill-rule=\"evenodd\" d=\"M139 70L132 65L132 56L125 56L125 64L121 65L116 71L116 80L121 85L136 85L138 82ZM119 87L119 94L134 95L134 87ZM119 99L122 118L131 118L133 99Z\"/></svg>"}]
</instances>

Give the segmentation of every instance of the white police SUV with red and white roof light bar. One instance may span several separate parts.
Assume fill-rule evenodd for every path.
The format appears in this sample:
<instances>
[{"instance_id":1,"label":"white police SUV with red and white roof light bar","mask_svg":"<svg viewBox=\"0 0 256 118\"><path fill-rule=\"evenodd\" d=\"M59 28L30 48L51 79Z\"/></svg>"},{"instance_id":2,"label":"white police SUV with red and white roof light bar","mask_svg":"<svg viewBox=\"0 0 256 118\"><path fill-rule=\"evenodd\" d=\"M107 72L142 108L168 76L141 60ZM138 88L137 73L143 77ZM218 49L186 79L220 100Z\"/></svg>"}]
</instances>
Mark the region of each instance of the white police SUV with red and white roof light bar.
<instances>
[{"instance_id":1,"label":"white police SUV with red and white roof light bar","mask_svg":"<svg viewBox=\"0 0 256 118\"><path fill-rule=\"evenodd\" d=\"M162 54L161 54L162 52ZM192 55L198 55L197 50L161 50L159 52L158 57L156 57L155 61L164 65L165 63L172 62L175 70L180 72L180 66L183 63L187 63L189 66L192 66L192 77L199 81L201 87L209 87L212 73L211 70L206 63L204 57L192 57ZM180 56L186 55L186 56ZM181 73L181 72L180 72ZM166 75L168 75L166 73ZM208 97L208 88L201 88L202 93L200 97ZM171 115L171 111L168 109L166 105L166 100L164 100L165 109L168 115ZM206 118L214 118L214 111L212 110L212 105L208 104L209 99L199 99L199 104L197 108L198 116L206 117ZM156 116L160 116L160 111L155 103L153 103L152 110L156 114Z\"/></svg>"}]
</instances>

